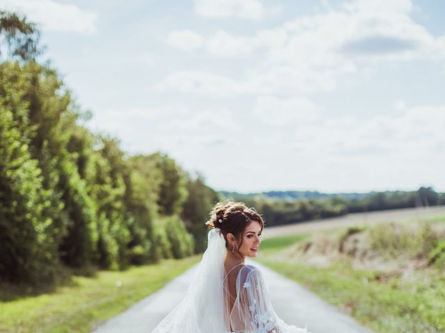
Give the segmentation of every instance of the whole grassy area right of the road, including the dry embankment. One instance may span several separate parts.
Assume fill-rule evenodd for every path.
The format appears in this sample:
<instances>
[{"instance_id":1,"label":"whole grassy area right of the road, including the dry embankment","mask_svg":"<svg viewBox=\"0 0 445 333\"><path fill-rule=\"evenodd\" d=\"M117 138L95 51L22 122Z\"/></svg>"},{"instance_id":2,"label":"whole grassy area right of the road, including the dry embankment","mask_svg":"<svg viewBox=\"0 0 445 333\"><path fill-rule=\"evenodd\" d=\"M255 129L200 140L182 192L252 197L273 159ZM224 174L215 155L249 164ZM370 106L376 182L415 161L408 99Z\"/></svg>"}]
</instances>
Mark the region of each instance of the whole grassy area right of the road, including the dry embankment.
<instances>
[{"instance_id":1,"label":"whole grassy area right of the road, including the dry embankment","mask_svg":"<svg viewBox=\"0 0 445 333\"><path fill-rule=\"evenodd\" d=\"M439 333L444 239L442 214L269 238L258 259L375 332Z\"/></svg>"}]
</instances>

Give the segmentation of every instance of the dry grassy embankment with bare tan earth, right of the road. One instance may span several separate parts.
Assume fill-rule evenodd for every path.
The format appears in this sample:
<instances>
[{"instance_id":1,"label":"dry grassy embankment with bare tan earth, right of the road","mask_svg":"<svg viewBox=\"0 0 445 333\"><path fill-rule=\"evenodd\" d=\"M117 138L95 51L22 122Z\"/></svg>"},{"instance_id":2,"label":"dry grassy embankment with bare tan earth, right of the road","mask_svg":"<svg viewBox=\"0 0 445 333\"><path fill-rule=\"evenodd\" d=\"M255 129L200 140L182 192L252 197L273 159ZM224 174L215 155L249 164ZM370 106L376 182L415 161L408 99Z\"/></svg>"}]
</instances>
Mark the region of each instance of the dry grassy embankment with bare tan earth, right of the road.
<instances>
[{"instance_id":1,"label":"dry grassy embankment with bare tan earth, right of the road","mask_svg":"<svg viewBox=\"0 0 445 333\"><path fill-rule=\"evenodd\" d=\"M409 277L412 271L445 269L445 223L357 225L314 234L282 255L314 266L346 261L357 269L380 271L376 278Z\"/></svg>"}]
</instances>

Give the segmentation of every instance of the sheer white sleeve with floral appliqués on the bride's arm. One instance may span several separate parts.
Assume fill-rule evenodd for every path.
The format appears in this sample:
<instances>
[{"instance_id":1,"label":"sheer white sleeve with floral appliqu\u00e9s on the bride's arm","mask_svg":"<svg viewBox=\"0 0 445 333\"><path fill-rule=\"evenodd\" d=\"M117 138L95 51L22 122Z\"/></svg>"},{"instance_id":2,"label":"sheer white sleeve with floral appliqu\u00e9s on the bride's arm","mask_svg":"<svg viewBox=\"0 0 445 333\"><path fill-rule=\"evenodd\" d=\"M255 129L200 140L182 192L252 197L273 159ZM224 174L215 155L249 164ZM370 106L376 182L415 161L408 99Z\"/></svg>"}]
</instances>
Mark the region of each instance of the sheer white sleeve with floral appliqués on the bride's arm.
<instances>
[{"instance_id":1,"label":"sheer white sleeve with floral appliqu\u00e9s on the bride's arm","mask_svg":"<svg viewBox=\"0 0 445 333\"><path fill-rule=\"evenodd\" d=\"M245 309L245 320L255 333L310 333L305 328L287 325L278 318L272 307L269 289L261 271L253 268L240 286L241 302ZM246 323L247 324L247 323Z\"/></svg>"}]
</instances>

